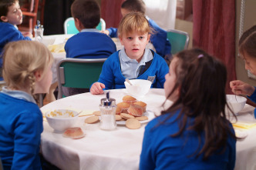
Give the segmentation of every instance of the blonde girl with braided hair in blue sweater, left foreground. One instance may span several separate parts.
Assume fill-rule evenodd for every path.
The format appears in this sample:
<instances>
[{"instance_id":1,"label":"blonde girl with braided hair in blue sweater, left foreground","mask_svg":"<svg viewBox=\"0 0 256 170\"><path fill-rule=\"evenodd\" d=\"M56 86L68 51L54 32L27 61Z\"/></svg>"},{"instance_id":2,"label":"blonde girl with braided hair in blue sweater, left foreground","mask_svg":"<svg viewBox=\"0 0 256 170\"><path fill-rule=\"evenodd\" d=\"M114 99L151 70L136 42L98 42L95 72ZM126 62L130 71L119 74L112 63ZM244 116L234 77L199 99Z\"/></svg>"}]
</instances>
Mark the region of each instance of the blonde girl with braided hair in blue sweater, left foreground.
<instances>
[{"instance_id":1,"label":"blonde girl with braided hair in blue sweater, left foreground","mask_svg":"<svg viewBox=\"0 0 256 170\"><path fill-rule=\"evenodd\" d=\"M7 86L0 92L0 157L4 169L42 169L42 112L33 95L49 92L52 62L52 53L39 42L5 45L3 77Z\"/></svg>"}]
</instances>

